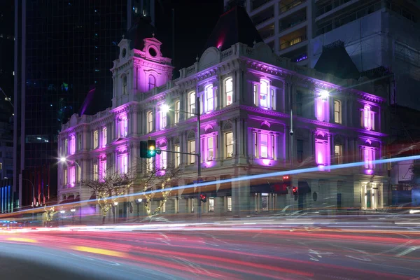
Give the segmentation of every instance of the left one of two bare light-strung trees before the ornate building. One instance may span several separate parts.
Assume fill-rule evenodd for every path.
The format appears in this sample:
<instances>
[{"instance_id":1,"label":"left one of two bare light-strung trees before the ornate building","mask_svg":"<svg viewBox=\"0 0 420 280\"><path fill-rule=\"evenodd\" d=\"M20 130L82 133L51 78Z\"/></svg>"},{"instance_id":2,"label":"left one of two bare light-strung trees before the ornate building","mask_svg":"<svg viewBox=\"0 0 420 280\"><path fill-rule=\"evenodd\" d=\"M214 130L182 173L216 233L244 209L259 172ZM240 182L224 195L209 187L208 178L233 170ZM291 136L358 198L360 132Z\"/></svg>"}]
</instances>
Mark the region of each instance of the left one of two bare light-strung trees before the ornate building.
<instances>
[{"instance_id":1,"label":"left one of two bare light-strung trees before the ornate building","mask_svg":"<svg viewBox=\"0 0 420 280\"><path fill-rule=\"evenodd\" d=\"M113 167L106 170L106 175L97 180L82 181L84 186L92 190L92 195L97 196L99 207L102 211L102 223L119 197L125 195L137 179L135 169L128 170L125 174L116 172Z\"/></svg>"}]
</instances>

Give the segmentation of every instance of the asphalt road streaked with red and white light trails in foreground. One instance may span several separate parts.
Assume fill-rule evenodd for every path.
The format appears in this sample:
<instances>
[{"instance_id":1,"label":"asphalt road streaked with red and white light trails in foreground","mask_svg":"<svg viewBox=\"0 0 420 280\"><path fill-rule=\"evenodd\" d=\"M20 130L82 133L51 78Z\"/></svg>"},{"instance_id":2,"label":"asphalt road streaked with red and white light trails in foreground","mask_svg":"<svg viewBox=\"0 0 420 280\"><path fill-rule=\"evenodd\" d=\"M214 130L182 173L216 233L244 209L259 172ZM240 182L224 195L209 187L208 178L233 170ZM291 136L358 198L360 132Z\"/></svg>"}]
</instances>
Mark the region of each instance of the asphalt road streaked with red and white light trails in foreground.
<instances>
[{"instance_id":1,"label":"asphalt road streaked with red and white light trails in foreground","mask_svg":"<svg viewBox=\"0 0 420 280\"><path fill-rule=\"evenodd\" d=\"M420 232L276 225L3 230L4 279L420 279Z\"/></svg>"}]
</instances>

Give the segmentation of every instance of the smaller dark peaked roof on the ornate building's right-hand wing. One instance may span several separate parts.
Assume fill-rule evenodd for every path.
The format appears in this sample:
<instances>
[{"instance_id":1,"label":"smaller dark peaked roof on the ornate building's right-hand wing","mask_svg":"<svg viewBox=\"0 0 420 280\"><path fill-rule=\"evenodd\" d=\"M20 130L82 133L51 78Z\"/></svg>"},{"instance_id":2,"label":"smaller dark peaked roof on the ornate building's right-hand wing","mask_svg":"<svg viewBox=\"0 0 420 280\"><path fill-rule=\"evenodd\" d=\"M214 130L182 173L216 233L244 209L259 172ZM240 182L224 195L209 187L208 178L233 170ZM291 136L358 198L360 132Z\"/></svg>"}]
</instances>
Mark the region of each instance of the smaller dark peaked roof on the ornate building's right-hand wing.
<instances>
[{"instance_id":1,"label":"smaller dark peaked roof on the ornate building's right-hand wing","mask_svg":"<svg viewBox=\"0 0 420 280\"><path fill-rule=\"evenodd\" d=\"M323 46L321 56L314 69L342 79L358 79L360 77L356 65L344 48L344 42L339 40Z\"/></svg>"}]
</instances>

